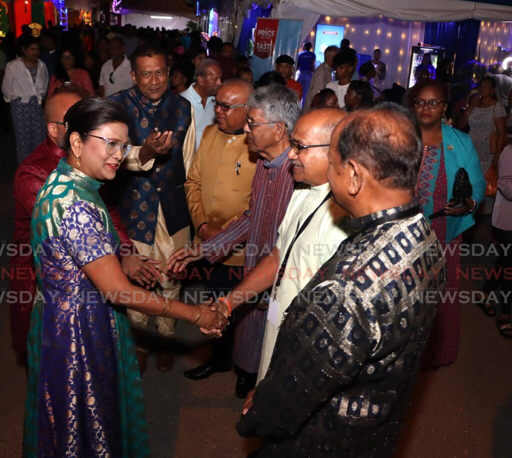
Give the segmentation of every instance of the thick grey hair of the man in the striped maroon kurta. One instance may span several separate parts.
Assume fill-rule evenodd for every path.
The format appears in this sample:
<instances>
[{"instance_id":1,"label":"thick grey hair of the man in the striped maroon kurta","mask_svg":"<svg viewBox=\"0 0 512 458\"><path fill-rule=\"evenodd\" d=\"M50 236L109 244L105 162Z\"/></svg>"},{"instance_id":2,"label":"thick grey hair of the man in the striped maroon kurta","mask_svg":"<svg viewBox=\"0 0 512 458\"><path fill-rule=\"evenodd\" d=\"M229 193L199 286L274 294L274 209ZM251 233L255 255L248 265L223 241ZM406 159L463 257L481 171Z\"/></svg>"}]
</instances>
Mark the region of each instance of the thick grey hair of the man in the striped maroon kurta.
<instances>
[{"instance_id":1,"label":"thick grey hair of the man in the striped maroon kurta","mask_svg":"<svg viewBox=\"0 0 512 458\"><path fill-rule=\"evenodd\" d=\"M255 90L247 100L247 110L261 110L268 122L283 122L290 134L302 114L297 94L280 84L263 86Z\"/></svg>"}]
</instances>

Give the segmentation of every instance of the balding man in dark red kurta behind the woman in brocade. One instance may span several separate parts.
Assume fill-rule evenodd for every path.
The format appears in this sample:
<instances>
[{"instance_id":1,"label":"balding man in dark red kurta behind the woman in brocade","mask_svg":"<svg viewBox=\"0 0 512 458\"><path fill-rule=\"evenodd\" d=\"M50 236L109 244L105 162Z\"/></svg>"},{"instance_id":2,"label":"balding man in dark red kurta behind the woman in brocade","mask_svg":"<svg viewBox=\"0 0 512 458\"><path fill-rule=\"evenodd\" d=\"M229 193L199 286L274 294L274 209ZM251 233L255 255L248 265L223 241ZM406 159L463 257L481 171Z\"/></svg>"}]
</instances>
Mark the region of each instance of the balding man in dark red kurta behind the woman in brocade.
<instances>
[{"instance_id":1,"label":"balding man in dark red kurta behind the woman in brocade","mask_svg":"<svg viewBox=\"0 0 512 458\"><path fill-rule=\"evenodd\" d=\"M30 222L37 194L52 173L60 159L67 156L66 129L63 118L68 109L81 97L74 92L61 92L50 97L45 106L47 137L18 167L14 175L14 244L15 256L11 260L10 290L16 293L16 301L11 303L12 346L18 353L19 362L26 363L27 334L30 314L34 303L36 280L33 265L33 253L30 248ZM102 186L100 194L106 199ZM137 253L132 241L126 234L115 206L108 205L110 216L120 238L121 260L124 273L141 286L154 282L159 276L153 267L153 261L133 255ZM145 261L148 262L145 262Z\"/></svg>"}]
</instances>

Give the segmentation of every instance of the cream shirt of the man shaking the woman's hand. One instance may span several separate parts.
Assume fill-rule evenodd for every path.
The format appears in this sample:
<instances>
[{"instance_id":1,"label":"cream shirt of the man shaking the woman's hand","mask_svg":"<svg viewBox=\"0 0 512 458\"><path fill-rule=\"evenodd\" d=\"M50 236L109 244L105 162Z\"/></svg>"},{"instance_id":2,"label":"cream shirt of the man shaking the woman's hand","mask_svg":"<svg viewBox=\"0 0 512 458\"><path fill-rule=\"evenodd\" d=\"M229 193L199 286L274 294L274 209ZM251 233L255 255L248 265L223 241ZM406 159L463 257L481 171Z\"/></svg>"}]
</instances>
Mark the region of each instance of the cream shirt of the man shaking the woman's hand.
<instances>
[{"instance_id":1,"label":"cream shirt of the man shaking the woman's hand","mask_svg":"<svg viewBox=\"0 0 512 458\"><path fill-rule=\"evenodd\" d=\"M275 242L276 248L280 251L279 267L281 267L288 247L295 237L297 225L304 224L308 216L322 203L330 191L329 183L307 186L293 191L283 222L279 227L278 240ZM331 198L318 208L292 246L277 292L275 292L276 279L274 279L271 297L273 298L275 294L275 301L279 304L278 316L276 325L268 319L266 321L258 381L263 379L267 373L285 310L295 296L309 283L318 269L332 257L339 244L347 238L347 233L343 229L343 219L339 220L338 212L340 209Z\"/></svg>"}]
</instances>

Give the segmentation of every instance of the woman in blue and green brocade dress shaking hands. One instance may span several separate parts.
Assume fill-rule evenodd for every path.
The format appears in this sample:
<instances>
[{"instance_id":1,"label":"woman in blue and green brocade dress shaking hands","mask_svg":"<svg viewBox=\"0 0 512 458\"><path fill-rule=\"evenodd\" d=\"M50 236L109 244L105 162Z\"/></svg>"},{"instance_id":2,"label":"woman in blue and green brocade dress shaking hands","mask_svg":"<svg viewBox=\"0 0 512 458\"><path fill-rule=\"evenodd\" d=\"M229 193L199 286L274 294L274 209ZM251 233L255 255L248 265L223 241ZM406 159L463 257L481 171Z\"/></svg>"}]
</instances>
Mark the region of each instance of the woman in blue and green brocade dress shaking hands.
<instances>
[{"instance_id":1,"label":"woman in blue and green brocade dress shaking hands","mask_svg":"<svg viewBox=\"0 0 512 458\"><path fill-rule=\"evenodd\" d=\"M68 158L37 196L31 223L40 293L28 338L25 457L150 456L142 384L125 307L221 328L224 317L133 285L98 194L131 149L128 118L109 99L64 118Z\"/></svg>"}]
</instances>

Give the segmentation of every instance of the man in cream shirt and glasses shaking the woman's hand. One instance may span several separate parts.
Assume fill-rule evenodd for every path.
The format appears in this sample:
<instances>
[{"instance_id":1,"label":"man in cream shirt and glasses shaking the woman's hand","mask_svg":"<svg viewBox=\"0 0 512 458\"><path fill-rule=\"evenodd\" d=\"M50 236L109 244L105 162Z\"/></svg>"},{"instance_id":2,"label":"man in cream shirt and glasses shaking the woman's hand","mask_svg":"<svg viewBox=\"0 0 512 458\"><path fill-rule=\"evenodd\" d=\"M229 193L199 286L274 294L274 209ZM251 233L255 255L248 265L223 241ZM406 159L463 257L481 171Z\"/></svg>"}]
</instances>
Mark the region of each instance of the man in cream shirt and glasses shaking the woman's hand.
<instances>
[{"instance_id":1,"label":"man in cream shirt and glasses shaking the woman's hand","mask_svg":"<svg viewBox=\"0 0 512 458\"><path fill-rule=\"evenodd\" d=\"M293 178L300 184L279 228L278 241L271 254L225 298L234 309L271 287L259 380L267 372L285 310L347 238L343 229L347 213L331 199L327 181L331 133L345 116L344 110L324 108L298 119L288 157L293 163ZM224 301L214 307L227 313Z\"/></svg>"}]
</instances>

